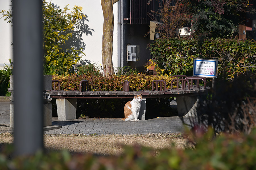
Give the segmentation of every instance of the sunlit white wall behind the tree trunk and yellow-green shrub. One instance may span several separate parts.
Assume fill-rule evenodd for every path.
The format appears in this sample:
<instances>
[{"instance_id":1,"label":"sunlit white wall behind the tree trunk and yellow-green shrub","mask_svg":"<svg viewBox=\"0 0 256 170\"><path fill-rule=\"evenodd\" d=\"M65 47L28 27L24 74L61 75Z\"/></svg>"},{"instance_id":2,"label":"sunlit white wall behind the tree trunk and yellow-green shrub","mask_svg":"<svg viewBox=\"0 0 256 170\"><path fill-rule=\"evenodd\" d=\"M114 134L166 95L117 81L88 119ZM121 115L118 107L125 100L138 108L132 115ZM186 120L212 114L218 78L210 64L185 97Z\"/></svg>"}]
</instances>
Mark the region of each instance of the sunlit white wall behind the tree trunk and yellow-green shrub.
<instances>
[{"instance_id":1,"label":"sunlit white wall behind the tree trunk and yellow-green shrub","mask_svg":"<svg viewBox=\"0 0 256 170\"><path fill-rule=\"evenodd\" d=\"M82 36L86 47L83 51L86 56L82 59L90 60L91 63L95 62L102 65L101 49L102 49L102 31L103 31L103 13L100 0L52 0L52 3L60 6L62 9L65 5L69 4L69 9L75 5L82 7L82 12L88 16L89 22L86 24L89 28L94 29L92 36L85 34ZM8 10L11 0L0 0L0 10ZM113 34L113 65L117 67L117 3L113 6L114 11L114 34ZM7 24L3 18L0 19L0 64L8 64L8 59L12 58L12 32L11 24Z\"/></svg>"}]
</instances>

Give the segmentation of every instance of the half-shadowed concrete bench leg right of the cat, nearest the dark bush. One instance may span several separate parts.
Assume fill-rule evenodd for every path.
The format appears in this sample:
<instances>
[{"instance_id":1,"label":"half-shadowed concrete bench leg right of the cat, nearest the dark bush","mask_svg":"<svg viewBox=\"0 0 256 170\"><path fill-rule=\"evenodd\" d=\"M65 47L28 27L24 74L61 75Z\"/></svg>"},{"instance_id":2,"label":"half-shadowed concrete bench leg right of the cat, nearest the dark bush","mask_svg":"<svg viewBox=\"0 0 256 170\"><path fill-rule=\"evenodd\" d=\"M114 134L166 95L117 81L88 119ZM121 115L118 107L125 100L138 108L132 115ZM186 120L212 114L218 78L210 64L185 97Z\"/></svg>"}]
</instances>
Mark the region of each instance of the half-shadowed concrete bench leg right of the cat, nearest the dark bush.
<instances>
[{"instance_id":1,"label":"half-shadowed concrete bench leg right of the cat, nearest the dark bush","mask_svg":"<svg viewBox=\"0 0 256 170\"><path fill-rule=\"evenodd\" d=\"M196 116L197 96L176 97L178 116Z\"/></svg>"}]
</instances>

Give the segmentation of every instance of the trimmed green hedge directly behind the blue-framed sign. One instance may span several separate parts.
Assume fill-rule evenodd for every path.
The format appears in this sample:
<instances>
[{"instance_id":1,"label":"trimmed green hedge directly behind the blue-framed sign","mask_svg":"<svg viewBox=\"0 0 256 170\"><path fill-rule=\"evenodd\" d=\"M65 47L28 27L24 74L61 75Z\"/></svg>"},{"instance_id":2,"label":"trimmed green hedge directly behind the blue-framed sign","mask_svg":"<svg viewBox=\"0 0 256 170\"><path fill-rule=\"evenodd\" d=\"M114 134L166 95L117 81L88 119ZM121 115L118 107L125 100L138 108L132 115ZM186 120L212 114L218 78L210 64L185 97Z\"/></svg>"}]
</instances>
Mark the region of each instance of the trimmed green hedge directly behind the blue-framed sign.
<instances>
[{"instance_id":1,"label":"trimmed green hedge directly behind the blue-framed sign","mask_svg":"<svg viewBox=\"0 0 256 170\"><path fill-rule=\"evenodd\" d=\"M256 70L256 42L236 39L156 39L149 46L156 70L167 75L192 75L193 59L218 59L218 77Z\"/></svg>"}]
</instances>

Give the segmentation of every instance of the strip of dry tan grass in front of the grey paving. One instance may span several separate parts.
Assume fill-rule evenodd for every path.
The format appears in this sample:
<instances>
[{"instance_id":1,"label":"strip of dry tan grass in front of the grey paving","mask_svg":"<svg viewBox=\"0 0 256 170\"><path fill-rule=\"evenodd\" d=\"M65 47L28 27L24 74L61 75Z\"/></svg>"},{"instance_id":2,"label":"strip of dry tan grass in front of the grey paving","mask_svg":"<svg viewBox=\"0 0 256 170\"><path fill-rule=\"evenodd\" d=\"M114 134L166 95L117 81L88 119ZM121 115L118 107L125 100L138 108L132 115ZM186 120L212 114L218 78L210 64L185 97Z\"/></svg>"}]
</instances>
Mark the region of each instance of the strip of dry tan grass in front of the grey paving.
<instances>
[{"instance_id":1,"label":"strip of dry tan grass in front of the grey paving","mask_svg":"<svg viewBox=\"0 0 256 170\"><path fill-rule=\"evenodd\" d=\"M0 134L0 143L12 143L13 135ZM100 155L119 155L123 145L135 145L152 148L158 152L163 148L185 148L187 139L177 133L159 133L147 135L45 135L44 146L47 150L66 149L71 152L93 153ZM174 144L174 145L173 145Z\"/></svg>"}]
</instances>

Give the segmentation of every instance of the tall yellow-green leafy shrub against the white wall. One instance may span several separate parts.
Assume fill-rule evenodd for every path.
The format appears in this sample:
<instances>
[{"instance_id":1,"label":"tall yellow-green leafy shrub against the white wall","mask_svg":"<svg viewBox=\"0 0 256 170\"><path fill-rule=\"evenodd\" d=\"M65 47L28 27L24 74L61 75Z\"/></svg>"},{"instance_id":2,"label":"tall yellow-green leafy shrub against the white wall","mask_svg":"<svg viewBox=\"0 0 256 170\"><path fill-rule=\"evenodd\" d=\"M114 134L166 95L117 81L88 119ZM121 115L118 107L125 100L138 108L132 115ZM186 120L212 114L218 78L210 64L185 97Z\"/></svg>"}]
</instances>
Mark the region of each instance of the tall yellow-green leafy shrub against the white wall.
<instances>
[{"instance_id":1,"label":"tall yellow-green leafy shrub against the white wall","mask_svg":"<svg viewBox=\"0 0 256 170\"><path fill-rule=\"evenodd\" d=\"M44 74L64 74L85 55L82 34L92 35L94 30L85 24L88 19L82 13L82 7L74 6L71 12L68 10L68 5L60 9L43 0ZM12 23L12 9L0 12L4 20Z\"/></svg>"}]
</instances>

